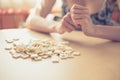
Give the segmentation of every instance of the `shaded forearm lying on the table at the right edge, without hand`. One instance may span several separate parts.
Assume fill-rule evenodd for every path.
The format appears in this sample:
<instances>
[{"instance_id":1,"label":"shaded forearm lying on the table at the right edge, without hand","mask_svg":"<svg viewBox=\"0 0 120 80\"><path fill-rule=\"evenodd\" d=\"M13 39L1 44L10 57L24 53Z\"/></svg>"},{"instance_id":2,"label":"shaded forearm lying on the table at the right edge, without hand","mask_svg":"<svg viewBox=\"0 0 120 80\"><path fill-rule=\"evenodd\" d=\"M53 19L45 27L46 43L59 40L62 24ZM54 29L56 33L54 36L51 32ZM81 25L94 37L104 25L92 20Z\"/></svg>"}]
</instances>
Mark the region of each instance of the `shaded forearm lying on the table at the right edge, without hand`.
<instances>
[{"instance_id":1,"label":"shaded forearm lying on the table at the right edge, without hand","mask_svg":"<svg viewBox=\"0 0 120 80\"><path fill-rule=\"evenodd\" d=\"M97 25L93 27L93 30L90 36L120 41L120 26Z\"/></svg>"}]
</instances>

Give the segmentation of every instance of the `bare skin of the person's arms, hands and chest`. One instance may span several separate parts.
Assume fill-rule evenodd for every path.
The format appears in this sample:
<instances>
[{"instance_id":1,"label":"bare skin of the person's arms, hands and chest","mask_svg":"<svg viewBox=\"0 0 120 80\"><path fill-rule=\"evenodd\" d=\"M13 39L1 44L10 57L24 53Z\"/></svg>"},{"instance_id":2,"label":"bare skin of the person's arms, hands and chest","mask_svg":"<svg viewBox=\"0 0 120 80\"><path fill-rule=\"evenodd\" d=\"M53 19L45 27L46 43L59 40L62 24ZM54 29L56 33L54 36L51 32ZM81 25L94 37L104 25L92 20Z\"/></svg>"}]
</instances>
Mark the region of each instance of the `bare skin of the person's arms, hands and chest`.
<instances>
[{"instance_id":1,"label":"bare skin of the person's arms, hands and chest","mask_svg":"<svg viewBox=\"0 0 120 80\"><path fill-rule=\"evenodd\" d=\"M120 26L94 25L90 18L92 13L101 10L101 5L104 5L105 0L67 0L68 6L72 8L61 22L47 21L45 19L56 0L41 1L42 6L39 6L40 3L38 3L38 6L32 9L26 21L28 28L47 33L71 32L81 28L88 36L120 41Z\"/></svg>"}]
</instances>

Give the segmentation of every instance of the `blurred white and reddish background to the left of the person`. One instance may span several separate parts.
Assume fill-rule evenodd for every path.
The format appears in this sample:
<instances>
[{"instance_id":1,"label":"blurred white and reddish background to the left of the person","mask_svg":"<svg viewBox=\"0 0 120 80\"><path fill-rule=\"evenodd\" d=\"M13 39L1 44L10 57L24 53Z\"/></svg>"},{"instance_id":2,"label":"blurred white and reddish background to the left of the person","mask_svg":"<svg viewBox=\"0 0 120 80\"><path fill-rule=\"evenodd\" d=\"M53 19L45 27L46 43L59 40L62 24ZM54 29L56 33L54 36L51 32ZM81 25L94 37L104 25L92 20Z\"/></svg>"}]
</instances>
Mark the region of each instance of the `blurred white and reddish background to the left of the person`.
<instances>
[{"instance_id":1,"label":"blurred white and reddish background to the left of the person","mask_svg":"<svg viewBox=\"0 0 120 80\"><path fill-rule=\"evenodd\" d=\"M0 29L23 26L37 0L0 0ZM61 0L57 0L51 14L61 13Z\"/></svg>"}]
</instances>

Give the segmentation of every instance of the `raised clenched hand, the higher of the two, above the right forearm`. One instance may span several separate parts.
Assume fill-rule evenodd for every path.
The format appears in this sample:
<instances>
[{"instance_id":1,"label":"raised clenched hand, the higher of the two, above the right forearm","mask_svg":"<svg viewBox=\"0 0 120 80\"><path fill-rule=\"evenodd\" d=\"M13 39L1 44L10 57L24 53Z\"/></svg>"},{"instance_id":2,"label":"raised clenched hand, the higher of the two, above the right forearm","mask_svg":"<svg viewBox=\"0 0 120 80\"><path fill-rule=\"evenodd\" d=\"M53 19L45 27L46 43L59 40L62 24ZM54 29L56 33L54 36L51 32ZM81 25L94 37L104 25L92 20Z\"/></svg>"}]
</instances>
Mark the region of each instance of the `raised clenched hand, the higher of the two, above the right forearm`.
<instances>
[{"instance_id":1,"label":"raised clenched hand, the higher of the two, above the right forearm","mask_svg":"<svg viewBox=\"0 0 120 80\"><path fill-rule=\"evenodd\" d=\"M74 4L70 10L71 18L74 24L80 25L82 31L86 35L90 35L94 33L93 23L90 18L90 13L87 7Z\"/></svg>"}]
</instances>

